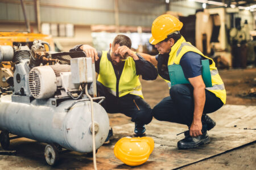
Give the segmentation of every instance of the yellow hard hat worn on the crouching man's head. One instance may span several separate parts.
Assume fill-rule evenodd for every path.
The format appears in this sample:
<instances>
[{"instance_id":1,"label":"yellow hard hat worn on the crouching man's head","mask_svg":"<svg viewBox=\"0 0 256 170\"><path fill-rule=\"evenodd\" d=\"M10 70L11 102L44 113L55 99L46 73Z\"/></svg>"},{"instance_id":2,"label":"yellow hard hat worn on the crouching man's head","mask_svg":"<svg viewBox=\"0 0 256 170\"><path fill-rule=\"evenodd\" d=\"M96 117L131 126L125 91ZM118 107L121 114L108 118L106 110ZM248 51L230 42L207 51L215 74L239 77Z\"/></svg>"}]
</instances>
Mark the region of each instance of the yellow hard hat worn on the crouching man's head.
<instances>
[{"instance_id":1,"label":"yellow hard hat worn on the crouching man's head","mask_svg":"<svg viewBox=\"0 0 256 170\"><path fill-rule=\"evenodd\" d=\"M150 44L158 44L158 42L163 41L168 35L174 33L175 31L180 31L183 27L183 23L180 22L175 16L170 14L164 14L158 16L152 23L150 38Z\"/></svg>"}]
</instances>

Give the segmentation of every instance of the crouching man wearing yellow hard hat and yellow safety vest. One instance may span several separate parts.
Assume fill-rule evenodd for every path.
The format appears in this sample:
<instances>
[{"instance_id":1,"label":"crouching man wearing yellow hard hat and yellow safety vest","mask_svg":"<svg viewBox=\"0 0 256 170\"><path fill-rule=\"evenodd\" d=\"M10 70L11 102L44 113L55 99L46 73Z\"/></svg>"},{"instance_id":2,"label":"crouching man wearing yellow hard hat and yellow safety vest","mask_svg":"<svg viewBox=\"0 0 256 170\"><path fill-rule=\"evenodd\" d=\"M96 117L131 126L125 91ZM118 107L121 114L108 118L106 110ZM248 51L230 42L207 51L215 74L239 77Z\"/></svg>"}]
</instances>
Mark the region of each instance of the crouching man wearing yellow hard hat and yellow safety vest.
<instances>
[{"instance_id":1,"label":"crouching man wearing yellow hard hat and yellow safety vest","mask_svg":"<svg viewBox=\"0 0 256 170\"><path fill-rule=\"evenodd\" d=\"M226 91L213 60L185 41L179 33L182 27L183 23L172 15L165 14L156 18L152 23L150 43L155 45L159 54L141 55L157 66L158 74L171 87L170 96L160 101L152 114L157 120L188 126L185 138L177 142L178 148L185 149L210 142L207 130L212 129L216 123L207 113L215 112L225 104ZM205 88L202 59L209 59L212 87ZM168 66L174 64L181 66L190 84L171 86Z\"/></svg>"}]
</instances>

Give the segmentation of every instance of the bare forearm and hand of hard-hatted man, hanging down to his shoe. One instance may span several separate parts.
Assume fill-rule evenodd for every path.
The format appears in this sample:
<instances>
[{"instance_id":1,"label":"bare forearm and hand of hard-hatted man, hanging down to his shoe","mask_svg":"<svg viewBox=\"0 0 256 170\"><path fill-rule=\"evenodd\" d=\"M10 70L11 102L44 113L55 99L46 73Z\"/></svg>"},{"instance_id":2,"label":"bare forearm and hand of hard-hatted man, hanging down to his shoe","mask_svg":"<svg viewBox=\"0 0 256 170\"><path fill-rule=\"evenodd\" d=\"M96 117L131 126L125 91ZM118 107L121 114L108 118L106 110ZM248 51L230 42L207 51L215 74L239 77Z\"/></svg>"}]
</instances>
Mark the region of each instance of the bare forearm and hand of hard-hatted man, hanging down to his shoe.
<instances>
[{"instance_id":1,"label":"bare forearm and hand of hard-hatted man, hanging down to his shoe","mask_svg":"<svg viewBox=\"0 0 256 170\"><path fill-rule=\"evenodd\" d=\"M201 75L194 78L188 78L189 82L193 86L194 97L194 112L193 121L189 129L189 134L193 137L202 135L202 114L205 104L205 84Z\"/></svg>"}]
</instances>

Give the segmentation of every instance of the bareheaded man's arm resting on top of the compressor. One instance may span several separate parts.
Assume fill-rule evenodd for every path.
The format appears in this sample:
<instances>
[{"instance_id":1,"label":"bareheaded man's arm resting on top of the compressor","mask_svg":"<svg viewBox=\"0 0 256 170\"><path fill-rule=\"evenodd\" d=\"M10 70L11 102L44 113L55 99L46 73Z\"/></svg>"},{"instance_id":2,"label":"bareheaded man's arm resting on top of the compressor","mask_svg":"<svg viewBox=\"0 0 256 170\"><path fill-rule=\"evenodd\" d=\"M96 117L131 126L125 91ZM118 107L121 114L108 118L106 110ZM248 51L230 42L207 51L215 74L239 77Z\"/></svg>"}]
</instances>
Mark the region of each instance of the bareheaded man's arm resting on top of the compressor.
<instances>
[{"instance_id":1,"label":"bareheaded man's arm resting on top of the compressor","mask_svg":"<svg viewBox=\"0 0 256 170\"><path fill-rule=\"evenodd\" d=\"M102 52L97 52L95 48L93 48L90 45L76 45L72 49L69 50L69 52L81 52L84 51L86 54L86 57L90 57L95 59L95 70L96 73L100 73L100 59L102 56Z\"/></svg>"}]
</instances>

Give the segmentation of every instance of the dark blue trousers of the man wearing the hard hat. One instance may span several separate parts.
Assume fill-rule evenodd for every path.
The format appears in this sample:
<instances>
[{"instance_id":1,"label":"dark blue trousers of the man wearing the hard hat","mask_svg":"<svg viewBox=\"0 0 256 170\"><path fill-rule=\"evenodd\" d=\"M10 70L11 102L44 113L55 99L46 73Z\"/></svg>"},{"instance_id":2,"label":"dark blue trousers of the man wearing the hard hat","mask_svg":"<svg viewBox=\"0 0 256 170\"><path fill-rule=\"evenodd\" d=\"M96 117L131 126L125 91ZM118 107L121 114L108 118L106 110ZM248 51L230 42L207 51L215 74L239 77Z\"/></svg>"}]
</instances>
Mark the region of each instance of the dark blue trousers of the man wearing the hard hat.
<instances>
[{"instance_id":1,"label":"dark blue trousers of the man wearing the hard hat","mask_svg":"<svg viewBox=\"0 0 256 170\"><path fill-rule=\"evenodd\" d=\"M212 92L205 90L205 105L203 114L212 113L222 107L220 98ZM170 89L170 96L158 103L153 116L160 121L176 122L191 126L193 121L194 99L191 84L176 84Z\"/></svg>"}]
</instances>

